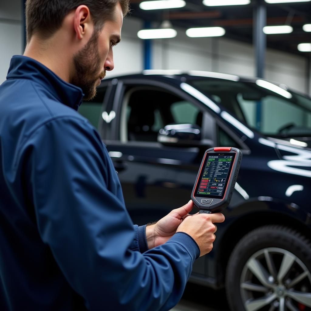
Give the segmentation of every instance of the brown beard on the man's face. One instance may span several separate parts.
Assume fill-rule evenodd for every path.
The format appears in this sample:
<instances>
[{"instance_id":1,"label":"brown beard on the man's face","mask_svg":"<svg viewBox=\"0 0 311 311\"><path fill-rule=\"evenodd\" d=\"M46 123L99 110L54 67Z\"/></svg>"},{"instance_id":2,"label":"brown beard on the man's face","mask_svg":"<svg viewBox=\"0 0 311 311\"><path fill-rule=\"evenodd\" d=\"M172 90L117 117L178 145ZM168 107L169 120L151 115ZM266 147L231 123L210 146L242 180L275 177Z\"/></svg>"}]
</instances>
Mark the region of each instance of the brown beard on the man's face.
<instances>
[{"instance_id":1,"label":"brown beard on the man's face","mask_svg":"<svg viewBox=\"0 0 311 311\"><path fill-rule=\"evenodd\" d=\"M98 53L98 32L93 33L87 44L73 57L75 74L70 83L80 87L84 93L83 100L91 100L96 95L98 79L106 75L103 70L100 75L100 55Z\"/></svg>"}]
</instances>

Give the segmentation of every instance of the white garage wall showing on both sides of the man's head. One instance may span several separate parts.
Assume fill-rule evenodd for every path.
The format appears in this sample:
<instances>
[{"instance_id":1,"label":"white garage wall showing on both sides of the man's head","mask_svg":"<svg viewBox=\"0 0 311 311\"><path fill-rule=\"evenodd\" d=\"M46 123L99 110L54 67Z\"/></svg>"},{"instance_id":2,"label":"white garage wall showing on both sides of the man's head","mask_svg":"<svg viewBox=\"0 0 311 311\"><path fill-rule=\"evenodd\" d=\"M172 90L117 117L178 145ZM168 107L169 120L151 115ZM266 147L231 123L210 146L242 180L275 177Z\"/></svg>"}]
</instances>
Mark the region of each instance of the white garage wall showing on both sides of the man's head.
<instances>
[{"instance_id":1,"label":"white garage wall showing on both sides of the man's head","mask_svg":"<svg viewBox=\"0 0 311 311\"><path fill-rule=\"evenodd\" d=\"M0 1L0 83L5 80L10 58L22 53L21 1ZM143 69L143 41L137 38L142 21L128 16L122 27L122 41L114 47L114 70L107 77L140 72ZM252 77L255 72L251 44L225 38L188 38L177 29L173 39L152 42L153 69L207 70ZM267 50L265 78L307 91L305 58Z\"/></svg>"}]
</instances>

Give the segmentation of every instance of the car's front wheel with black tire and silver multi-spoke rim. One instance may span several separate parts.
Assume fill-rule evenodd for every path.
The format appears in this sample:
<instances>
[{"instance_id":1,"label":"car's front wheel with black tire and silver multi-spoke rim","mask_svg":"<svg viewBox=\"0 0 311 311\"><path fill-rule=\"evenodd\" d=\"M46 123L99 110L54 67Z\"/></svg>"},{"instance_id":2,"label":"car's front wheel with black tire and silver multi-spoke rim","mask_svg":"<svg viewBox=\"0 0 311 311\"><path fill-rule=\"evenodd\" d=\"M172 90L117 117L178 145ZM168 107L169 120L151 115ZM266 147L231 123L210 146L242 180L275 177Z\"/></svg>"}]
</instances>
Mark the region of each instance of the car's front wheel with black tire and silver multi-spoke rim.
<instances>
[{"instance_id":1,"label":"car's front wheel with black tire and silver multi-spoke rim","mask_svg":"<svg viewBox=\"0 0 311 311\"><path fill-rule=\"evenodd\" d=\"M231 311L310 311L310 240L279 225L249 232L230 255L226 293Z\"/></svg>"}]
</instances>

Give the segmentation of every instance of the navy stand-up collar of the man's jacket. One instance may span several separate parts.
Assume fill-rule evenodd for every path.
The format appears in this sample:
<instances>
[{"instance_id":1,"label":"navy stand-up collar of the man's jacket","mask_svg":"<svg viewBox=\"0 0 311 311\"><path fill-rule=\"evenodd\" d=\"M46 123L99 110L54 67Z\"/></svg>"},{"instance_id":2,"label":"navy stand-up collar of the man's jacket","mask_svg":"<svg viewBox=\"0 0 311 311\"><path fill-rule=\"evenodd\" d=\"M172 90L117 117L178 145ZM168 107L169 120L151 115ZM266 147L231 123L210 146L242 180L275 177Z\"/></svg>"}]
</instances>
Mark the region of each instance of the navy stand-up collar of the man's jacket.
<instances>
[{"instance_id":1,"label":"navy stand-up collar of the man's jacket","mask_svg":"<svg viewBox=\"0 0 311 311\"><path fill-rule=\"evenodd\" d=\"M84 96L80 87L70 84L33 58L14 55L7 79L30 79L44 86L61 103L78 110Z\"/></svg>"}]
</instances>

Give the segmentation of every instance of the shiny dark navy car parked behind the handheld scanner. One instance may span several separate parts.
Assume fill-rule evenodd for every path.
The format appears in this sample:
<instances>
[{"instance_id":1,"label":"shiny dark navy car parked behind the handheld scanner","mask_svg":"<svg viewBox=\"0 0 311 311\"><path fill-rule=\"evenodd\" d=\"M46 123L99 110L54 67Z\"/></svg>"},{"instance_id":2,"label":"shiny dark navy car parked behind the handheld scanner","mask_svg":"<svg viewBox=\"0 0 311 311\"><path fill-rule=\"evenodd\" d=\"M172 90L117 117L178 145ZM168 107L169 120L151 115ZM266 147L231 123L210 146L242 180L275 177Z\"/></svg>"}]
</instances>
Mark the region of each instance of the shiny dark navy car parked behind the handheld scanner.
<instances>
[{"instance_id":1,"label":"shiny dark navy car parked behind the handheld scanner","mask_svg":"<svg viewBox=\"0 0 311 311\"><path fill-rule=\"evenodd\" d=\"M214 248L190 281L226 287L231 310L311 310L311 99L213 72L144 71L102 81L79 112L98 128L141 225L190 199L204 151L243 160Z\"/></svg>"}]
</instances>

